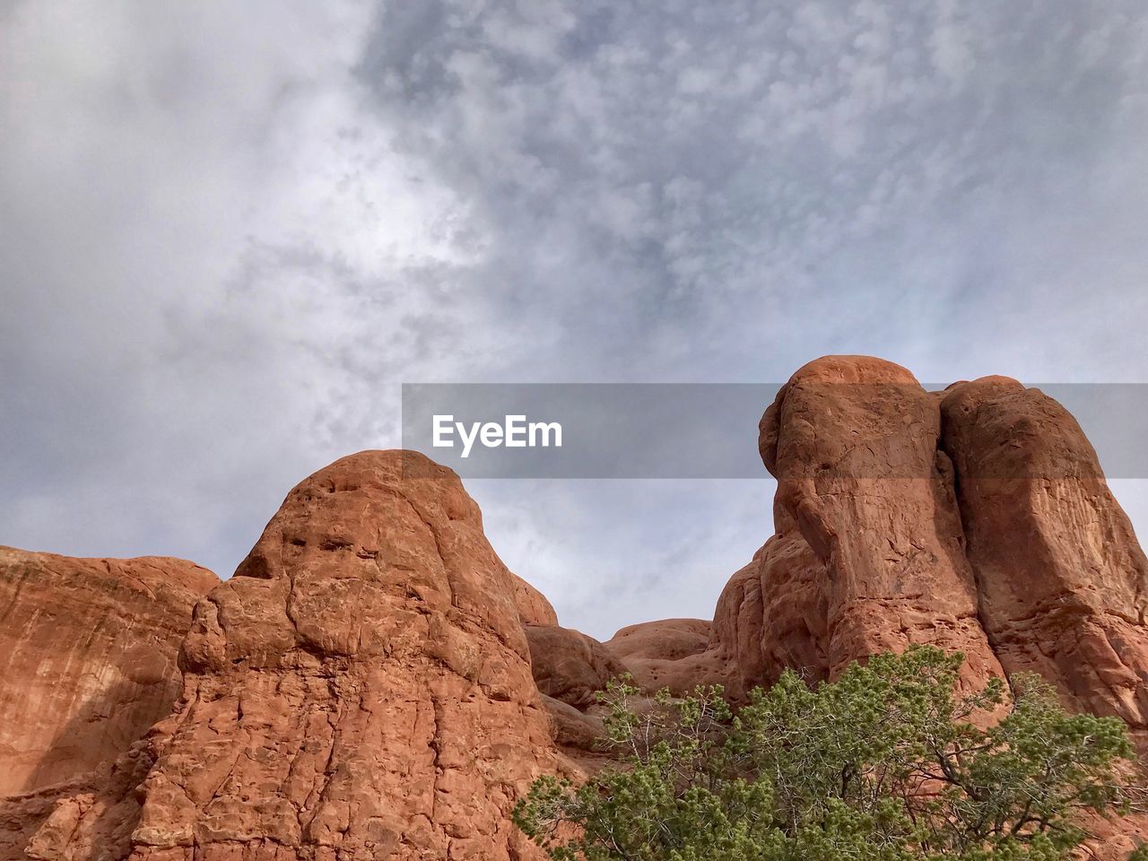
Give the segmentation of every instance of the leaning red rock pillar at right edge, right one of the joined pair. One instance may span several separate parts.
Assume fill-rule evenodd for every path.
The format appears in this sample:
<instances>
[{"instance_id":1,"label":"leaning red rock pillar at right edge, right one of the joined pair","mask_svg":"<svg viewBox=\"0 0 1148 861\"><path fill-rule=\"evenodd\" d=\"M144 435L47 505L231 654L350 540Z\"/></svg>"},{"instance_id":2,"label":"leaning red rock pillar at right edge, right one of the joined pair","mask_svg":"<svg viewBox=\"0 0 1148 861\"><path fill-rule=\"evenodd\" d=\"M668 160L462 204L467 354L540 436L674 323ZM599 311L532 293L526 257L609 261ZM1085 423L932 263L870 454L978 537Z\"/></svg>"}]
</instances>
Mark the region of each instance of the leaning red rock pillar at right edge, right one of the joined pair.
<instances>
[{"instance_id":1,"label":"leaning red rock pillar at right edge, right one of the joined pair","mask_svg":"<svg viewBox=\"0 0 1148 861\"><path fill-rule=\"evenodd\" d=\"M1065 701L1148 724L1148 560L1068 411L1016 380L949 387L945 450L959 475L980 618L1009 673Z\"/></svg>"}]
</instances>

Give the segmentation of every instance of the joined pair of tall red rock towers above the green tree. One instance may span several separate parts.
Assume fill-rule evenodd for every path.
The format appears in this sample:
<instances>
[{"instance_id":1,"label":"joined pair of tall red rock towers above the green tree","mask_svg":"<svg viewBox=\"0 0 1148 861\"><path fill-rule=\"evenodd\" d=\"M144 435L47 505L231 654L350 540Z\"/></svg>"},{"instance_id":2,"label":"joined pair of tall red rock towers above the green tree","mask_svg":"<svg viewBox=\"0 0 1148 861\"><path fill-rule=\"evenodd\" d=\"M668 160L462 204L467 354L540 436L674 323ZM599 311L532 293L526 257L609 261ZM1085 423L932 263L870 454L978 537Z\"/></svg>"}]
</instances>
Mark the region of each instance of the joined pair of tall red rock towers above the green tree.
<instances>
[{"instance_id":1,"label":"joined pair of tall red rock towers above the green tree","mask_svg":"<svg viewBox=\"0 0 1148 861\"><path fill-rule=\"evenodd\" d=\"M711 641L744 685L932 643L965 653L971 687L1035 670L1142 738L1148 565L1060 404L1006 378L926 393L899 365L829 356L782 388L759 445L776 534Z\"/></svg>"}]
</instances>

